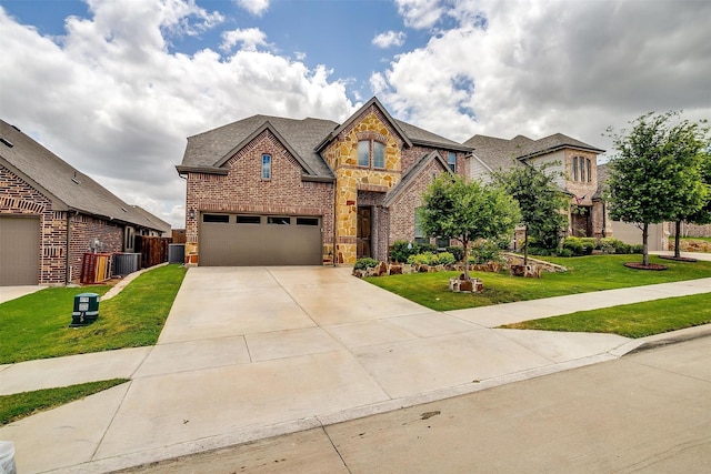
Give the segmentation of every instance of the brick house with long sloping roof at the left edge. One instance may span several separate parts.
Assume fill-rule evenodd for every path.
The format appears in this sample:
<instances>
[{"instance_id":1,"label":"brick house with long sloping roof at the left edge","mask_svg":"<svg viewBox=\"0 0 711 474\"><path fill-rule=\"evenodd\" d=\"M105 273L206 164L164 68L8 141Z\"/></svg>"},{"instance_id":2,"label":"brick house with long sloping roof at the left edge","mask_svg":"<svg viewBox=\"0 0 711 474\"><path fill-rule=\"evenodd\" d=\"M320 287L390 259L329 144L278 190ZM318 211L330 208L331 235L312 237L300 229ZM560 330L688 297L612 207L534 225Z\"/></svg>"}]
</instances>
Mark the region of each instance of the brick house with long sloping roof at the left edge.
<instances>
[{"instance_id":1,"label":"brick house with long sloping roof at the left edge","mask_svg":"<svg viewBox=\"0 0 711 474\"><path fill-rule=\"evenodd\" d=\"M0 285L78 281L91 249L132 251L170 225L0 120Z\"/></svg>"}]
</instances>

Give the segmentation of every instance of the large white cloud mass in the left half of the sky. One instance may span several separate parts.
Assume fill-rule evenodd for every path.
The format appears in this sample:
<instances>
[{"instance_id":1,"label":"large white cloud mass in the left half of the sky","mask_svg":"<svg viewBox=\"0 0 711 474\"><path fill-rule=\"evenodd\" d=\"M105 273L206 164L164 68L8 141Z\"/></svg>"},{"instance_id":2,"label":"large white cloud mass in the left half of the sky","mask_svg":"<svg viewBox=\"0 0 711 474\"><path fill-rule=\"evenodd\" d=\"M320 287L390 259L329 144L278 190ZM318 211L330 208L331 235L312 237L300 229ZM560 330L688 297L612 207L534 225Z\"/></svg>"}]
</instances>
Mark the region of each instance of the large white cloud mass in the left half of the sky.
<instances>
[{"instance_id":1,"label":"large white cloud mass in the left half of the sky","mask_svg":"<svg viewBox=\"0 0 711 474\"><path fill-rule=\"evenodd\" d=\"M187 137L256 113L343 120L354 110L330 69L254 51L257 40L229 57L169 52L170 34L208 28L192 0L90 8L56 42L0 7L2 118L174 226L184 225L174 167Z\"/></svg>"}]
</instances>

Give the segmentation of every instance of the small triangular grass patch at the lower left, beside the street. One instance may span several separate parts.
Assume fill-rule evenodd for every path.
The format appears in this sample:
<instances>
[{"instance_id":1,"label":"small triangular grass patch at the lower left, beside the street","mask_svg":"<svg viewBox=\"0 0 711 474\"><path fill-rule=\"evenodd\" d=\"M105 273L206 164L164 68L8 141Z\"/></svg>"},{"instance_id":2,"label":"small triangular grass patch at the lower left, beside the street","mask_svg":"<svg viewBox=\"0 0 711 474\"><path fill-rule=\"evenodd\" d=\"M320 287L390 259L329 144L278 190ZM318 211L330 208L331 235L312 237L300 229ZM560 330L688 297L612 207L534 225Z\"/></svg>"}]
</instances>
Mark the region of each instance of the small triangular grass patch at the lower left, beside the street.
<instances>
[{"instance_id":1,"label":"small triangular grass patch at the lower left, beside the street","mask_svg":"<svg viewBox=\"0 0 711 474\"><path fill-rule=\"evenodd\" d=\"M82 383L60 389L36 390L0 396L0 426L12 423L38 412L53 409L74 400L83 399L112 386L128 382L127 379L112 379L101 382Z\"/></svg>"}]
</instances>

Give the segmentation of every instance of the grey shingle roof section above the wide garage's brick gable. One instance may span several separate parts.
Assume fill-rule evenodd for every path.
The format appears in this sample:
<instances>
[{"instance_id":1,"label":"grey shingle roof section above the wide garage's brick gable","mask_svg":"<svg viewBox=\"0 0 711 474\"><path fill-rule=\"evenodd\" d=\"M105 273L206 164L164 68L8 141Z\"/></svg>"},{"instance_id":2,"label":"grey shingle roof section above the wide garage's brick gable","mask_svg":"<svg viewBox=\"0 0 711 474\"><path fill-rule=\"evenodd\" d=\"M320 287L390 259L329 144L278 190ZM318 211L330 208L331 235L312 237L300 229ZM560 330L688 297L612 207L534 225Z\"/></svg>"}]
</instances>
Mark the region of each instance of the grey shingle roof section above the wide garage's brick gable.
<instances>
[{"instance_id":1,"label":"grey shingle roof section above the wide garage's brick gable","mask_svg":"<svg viewBox=\"0 0 711 474\"><path fill-rule=\"evenodd\" d=\"M264 130L271 131L313 178L333 178L333 172L316 152L316 147L338 123L321 119L284 119L252 115L188 138L178 172L222 172L220 167Z\"/></svg>"}]
</instances>

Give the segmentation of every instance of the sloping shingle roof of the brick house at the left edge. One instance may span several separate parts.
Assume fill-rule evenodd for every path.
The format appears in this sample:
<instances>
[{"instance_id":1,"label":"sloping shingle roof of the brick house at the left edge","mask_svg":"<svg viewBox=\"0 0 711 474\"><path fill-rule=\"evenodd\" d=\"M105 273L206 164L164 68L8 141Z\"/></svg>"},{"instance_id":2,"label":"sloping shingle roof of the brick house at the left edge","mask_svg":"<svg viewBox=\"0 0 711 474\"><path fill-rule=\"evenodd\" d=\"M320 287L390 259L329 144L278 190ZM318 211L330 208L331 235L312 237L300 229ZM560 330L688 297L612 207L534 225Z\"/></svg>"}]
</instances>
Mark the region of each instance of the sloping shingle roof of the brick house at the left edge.
<instances>
[{"instance_id":1,"label":"sloping shingle roof of the brick house at the left edge","mask_svg":"<svg viewBox=\"0 0 711 474\"><path fill-rule=\"evenodd\" d=\"M170 230L166 222L149 219L146 211L137 211L4 120L0 120L0 164L50 199L56 211L80 211L147 229ZM163 230L166 225L168 230Z\"/></svg>"}]
</instances>

